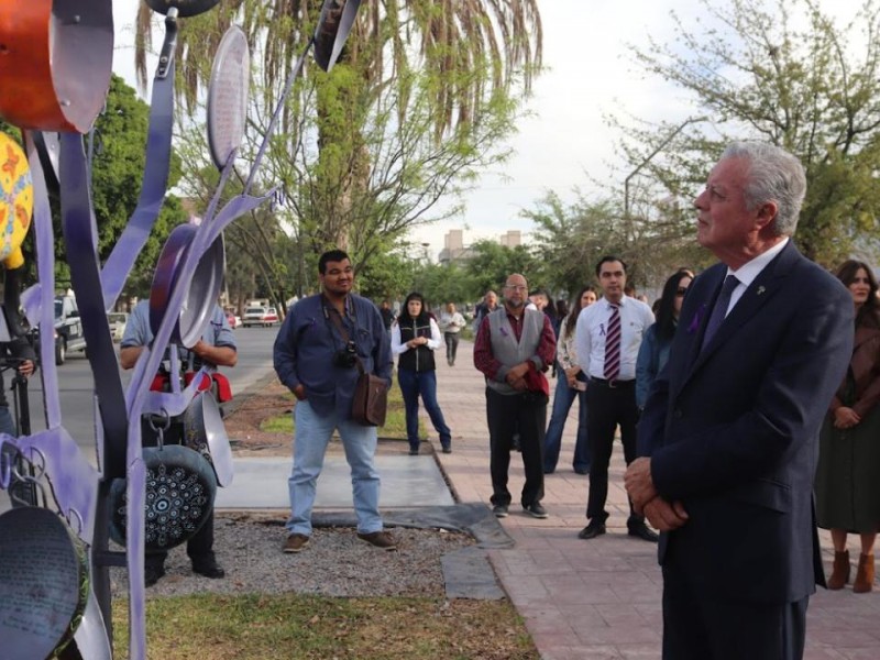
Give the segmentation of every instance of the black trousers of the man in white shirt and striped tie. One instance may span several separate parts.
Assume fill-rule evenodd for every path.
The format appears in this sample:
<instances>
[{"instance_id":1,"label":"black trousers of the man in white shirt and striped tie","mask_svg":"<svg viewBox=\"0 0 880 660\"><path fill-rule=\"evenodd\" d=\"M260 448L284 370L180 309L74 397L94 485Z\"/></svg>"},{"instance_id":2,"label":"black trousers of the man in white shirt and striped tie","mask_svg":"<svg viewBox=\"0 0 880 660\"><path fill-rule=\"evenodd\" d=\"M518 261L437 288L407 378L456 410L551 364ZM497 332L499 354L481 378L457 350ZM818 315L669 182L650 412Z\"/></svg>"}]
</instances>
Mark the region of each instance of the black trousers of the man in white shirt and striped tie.
<instances>
[{"instance_id":1,"label":"black trousers of the man in white shirt and striped tie","mask_svg":"<svg viewBox=\"0 0 880 660\"><path fill-rule=\"evenodd\" d=\"M614 448L614 431L620 427L624 459L629 465L636 460L636 425L639 411L636 407L636 382L617 383L615 387L604 381L591 378L586 386L586 437L590 443L590 495L586 517L604 522L608 518L605 501L608 497L608 464ZM629 502L628 526L644 522Z\"/></svg>"}]
</instances>

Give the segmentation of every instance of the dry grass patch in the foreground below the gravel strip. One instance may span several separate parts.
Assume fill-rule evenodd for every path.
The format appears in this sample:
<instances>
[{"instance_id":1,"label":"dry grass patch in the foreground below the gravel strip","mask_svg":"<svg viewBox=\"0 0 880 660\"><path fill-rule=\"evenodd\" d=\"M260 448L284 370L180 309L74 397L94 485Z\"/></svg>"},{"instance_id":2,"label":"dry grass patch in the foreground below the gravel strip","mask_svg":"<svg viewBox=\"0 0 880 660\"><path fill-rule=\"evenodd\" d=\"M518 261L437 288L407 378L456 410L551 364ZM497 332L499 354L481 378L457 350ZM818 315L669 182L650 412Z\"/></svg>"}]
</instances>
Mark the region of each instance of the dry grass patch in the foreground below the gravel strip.
<instances>
[{"instance_id":1,"label":"dry grass patch in the foreground below the gravel strip","mask_svg":"<svg viewBox=\"0 0 880 660\"><path fill-rule=\"evenodd\" d=\"M128 603L113 603L128 658ZM197 595L146 602L150 660L538 660L507 601Z\"/></svg>"}]
</instances>

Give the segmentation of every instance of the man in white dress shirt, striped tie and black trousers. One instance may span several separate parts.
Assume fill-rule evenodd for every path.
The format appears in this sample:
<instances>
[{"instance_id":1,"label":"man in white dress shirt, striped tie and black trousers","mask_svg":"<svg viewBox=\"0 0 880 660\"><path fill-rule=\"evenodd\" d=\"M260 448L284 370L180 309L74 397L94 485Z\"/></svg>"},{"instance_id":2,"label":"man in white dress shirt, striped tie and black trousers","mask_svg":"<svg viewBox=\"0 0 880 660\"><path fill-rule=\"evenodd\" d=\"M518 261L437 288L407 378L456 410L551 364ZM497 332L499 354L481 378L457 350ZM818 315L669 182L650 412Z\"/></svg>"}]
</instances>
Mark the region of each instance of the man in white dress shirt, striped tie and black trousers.
<instances>
[{"instance_id":1,"label":"man in white dress shirt, striped tie and black trousers","mask_svg":"<svg viewBox=\"0 0 880 660\"><path fill-rule=\"evenodd\" d=\"M641 338L654 320L650 307L624 295L626 264L620 258L602 257L596 277L603 299L581 310L574 340L581 369L588 378L587 438L592 457L586 505L590 524L578 535L581 539L605 534L608 463L618 425L627 465L636 459L636 358ZM657 534L645 525L645 517L634 510L631 502L626 526L629 536L657 542Z\"/></svg>"}]
</instances>

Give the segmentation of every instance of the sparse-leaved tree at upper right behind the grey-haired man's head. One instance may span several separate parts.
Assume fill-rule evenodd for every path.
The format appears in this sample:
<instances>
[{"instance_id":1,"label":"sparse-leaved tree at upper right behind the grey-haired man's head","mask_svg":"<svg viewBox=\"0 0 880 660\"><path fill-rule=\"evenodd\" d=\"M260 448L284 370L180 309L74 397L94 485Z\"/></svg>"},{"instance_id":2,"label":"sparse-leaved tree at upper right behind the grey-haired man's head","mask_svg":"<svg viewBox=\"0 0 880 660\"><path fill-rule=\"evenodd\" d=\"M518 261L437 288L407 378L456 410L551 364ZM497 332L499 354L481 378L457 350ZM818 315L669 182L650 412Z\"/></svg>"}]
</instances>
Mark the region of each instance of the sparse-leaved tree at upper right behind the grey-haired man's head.
<instances>
[{"instance_id":1,"label":"sparse-leaved tree at upper right behind the grey-haired man's head","mask_svg":"<svg viewBox=\"0 0 880 660\"><path fill-rule=\"evenodd\" d=\"M693 99L701 121L675 136L645 167L653 183L634 207L659 212L657 198L693 198L725 144L766 140L796 154L807 174L807 197L795 241L805 254L833 265L871 246L878 233L880 167L880 10L868 0L839 26L811 0L703 0L698 20L675 13L676 38L634 48L649 73ZM623 119L612 119L624 127ZM624 127L620 151L644 163L675 123ZM876 245L873 245L876 248Z\"/></svg>"}]
</instances>

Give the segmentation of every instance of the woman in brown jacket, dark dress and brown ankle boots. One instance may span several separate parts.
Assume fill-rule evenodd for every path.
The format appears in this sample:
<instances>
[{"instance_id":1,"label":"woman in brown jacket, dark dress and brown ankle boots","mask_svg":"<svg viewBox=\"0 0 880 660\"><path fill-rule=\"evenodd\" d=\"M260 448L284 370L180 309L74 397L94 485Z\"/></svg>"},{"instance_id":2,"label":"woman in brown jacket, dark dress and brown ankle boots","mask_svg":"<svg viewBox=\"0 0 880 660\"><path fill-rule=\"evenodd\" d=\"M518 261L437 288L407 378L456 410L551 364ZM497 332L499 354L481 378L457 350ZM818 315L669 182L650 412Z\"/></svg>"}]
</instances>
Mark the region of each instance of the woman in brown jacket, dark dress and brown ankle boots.
<instances>
[{"instance_id":1,"label":"woman in brown jacket, dark dress and brown ankle boots","mask_svg":"<svg viewBox=\"0 0 880 660\"><path fill-rule=\"evenodd\" d=\"M837 277L856 306L853 359L828 406L820 435L816 470L816 519L831 529L834 566L828 588L849 581L847 534L859 535L859 557L853 591L873 588L873 546L880 526L880 301L871 268L847 261Z\"/></svg>"}]
</instances>

